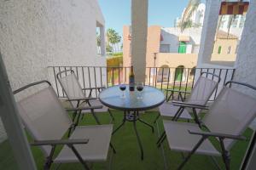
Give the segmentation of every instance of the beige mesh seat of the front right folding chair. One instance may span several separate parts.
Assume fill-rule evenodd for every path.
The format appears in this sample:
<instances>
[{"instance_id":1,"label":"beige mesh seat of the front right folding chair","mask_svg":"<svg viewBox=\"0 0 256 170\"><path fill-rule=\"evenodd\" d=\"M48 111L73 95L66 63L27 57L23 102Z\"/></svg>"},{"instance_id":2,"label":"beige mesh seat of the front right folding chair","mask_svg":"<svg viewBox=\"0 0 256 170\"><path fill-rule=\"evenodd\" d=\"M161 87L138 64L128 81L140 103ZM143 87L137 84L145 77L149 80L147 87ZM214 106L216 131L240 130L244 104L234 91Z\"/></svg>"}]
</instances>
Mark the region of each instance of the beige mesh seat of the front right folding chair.
<instances>
[{"instance_id":1,"label":"beige mesh seat of the front right folding chair","mask_svg":"<svg viewBox=\"0 0 256 170\"><path fill-rule=\"evenodd\" d=\"M166 136L171 150L189 152L201 139L201 135L190 134L191 131L201 131L195 123L164 121ZM212 143L206 139L195 153L209 156L221 156Z\"/></svg>"}]
</instances>

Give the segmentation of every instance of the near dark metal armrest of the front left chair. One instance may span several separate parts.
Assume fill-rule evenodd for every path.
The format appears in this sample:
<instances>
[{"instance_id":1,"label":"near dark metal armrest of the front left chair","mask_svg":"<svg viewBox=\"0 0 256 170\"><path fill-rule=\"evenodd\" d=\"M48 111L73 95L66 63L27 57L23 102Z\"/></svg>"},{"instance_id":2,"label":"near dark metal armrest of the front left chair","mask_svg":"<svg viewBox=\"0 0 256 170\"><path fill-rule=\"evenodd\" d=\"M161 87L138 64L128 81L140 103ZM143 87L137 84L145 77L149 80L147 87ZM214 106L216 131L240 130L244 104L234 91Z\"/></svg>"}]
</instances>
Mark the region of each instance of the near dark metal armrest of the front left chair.
<instances>
[{"instance_id":1,"label":"near dark metal armrest of the front left chair","mask_svg":"<svg viewBox=\"0 0 256 170\"><path fill-rule=\"evenodd\" d=\"M32 146L57 145L57 144L87 144L89 139L59 139L59 140L35 140L30 143Z\"/></svg>"}]
</instances>

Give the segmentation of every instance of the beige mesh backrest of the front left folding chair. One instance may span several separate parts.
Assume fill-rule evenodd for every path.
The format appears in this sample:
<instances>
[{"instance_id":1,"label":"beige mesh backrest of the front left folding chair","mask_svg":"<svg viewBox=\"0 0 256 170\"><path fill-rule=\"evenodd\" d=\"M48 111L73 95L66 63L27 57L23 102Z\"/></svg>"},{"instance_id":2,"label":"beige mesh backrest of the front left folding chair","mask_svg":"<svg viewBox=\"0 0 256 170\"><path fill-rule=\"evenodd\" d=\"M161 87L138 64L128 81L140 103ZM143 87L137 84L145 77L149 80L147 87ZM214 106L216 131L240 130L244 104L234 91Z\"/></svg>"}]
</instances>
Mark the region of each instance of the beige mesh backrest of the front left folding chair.
<instances>
[{"instance_id":1,"label":"beige mesh backrest of the front left folding chair","mask_svg":"<svg viewBox=\"0 0 256 170\"><path fill-rule=\"evenodd\" d=\"M61 139L72 124L51 86L21 99L17 105L20 118L34 140ZM49 156L50 146L41 149Z\"/></svg>"}]
</instances>

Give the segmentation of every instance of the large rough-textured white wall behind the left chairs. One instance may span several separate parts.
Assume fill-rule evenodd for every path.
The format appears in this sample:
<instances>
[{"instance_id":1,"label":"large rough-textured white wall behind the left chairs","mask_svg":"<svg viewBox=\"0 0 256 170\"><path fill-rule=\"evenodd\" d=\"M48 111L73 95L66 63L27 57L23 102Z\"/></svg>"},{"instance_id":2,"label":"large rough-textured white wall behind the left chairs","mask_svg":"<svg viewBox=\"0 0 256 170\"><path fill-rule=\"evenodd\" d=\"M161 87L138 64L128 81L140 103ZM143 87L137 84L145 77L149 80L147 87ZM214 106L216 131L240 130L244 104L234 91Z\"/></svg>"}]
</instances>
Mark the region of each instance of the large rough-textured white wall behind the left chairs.
<instances>
[{"instance_id":1,"label":"large rough-textured white wall behind the left chairs","mask_svg":"<svg viewBox=\"0 0 256 170\"><path fill-rule=\"evenodd\" d=\"M96 56L96 20L104 26L95 0L2 1L0 50L11 87L47 79L49 65L106 65Z\"/></svg>"}]
</instances>

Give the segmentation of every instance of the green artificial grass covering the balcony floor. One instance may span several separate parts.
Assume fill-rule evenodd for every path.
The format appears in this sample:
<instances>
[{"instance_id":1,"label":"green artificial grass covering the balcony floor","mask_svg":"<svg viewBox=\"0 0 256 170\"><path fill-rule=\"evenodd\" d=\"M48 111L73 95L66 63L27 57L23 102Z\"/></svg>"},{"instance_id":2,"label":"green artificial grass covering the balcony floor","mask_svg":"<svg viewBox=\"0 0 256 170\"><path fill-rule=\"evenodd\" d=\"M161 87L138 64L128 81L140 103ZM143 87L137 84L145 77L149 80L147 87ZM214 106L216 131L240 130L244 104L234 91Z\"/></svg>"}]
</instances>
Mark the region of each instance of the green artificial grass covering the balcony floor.
<instances>
[{"instance_id":1,"label":"green artificial grass covering the balcony floor","mask_svg":"<svg viewBox=\"0 0 256 170\"><path fill-rule=\"evenodd\" d=\"M146 111L141 115L141 118L153 124L154 118L156 116L156 111ZM108 124L110 117L108 114L102 113L98 114L99 119L102 123ZM123 114L121 111L113 111L113 116L115 117L114 127L117 127L120 122L122 122ZM92 116L84 116L83 122L80 125L94 125L96 124ZM163 132L163 125L161 119L159 120L160 132ZM155 127L155 125L154 125ZM164 159L162 156L161 149L156 147L155 142L157 141L158 133L157 128L155 127L155 132L152 133L151 129L144 124L137 122L137 130L141 136L144 149L144 160L140 159L140 150L138 148L136 135L133 129L132 122L126 122L124 127L121 127L117 133L112 137L112 143L117 150L117 153L112 157L112 166L113 170L156 170L156 169L165 169ZM247 138L250 138L253 131L247 129L244 135ZM30 140L30 138L29 138ZM213 141L216 144L216 141ZM238 141L233 149L231 150L231 169L239 169L242 158L247 150L247 144L249 141ZM182 161L182 156L179 152L175 152L169 149L167 142L163 144L165 150L166 161L168 169L176 169L179 163ZM58 148L60 150L61 148ZM44 165L44 155L41 150L37 147L32 147L32 154L37 163L38 169L43 169ZM112 150L109 150L108 156L110 157L113 154ZM221 157L217 157L217 161L220 166L224 169L224 163L222 162ZM108 161L105 162L96 162L93 163L92 169L108 169ZM53 166L55 167L55 166ZM17 169L15 165L15 159L11 153L10 145L8 141L0 144L0 169ZM54 168L52 168L54 169ZM61 164L59 169L83 169L79 163L69 163ZM194 155L188 161L183 169L187 170L198 170L198 169L207 169L213 170L216 169L212 161L208 156Z\"/></svg>"}]
</instances>

